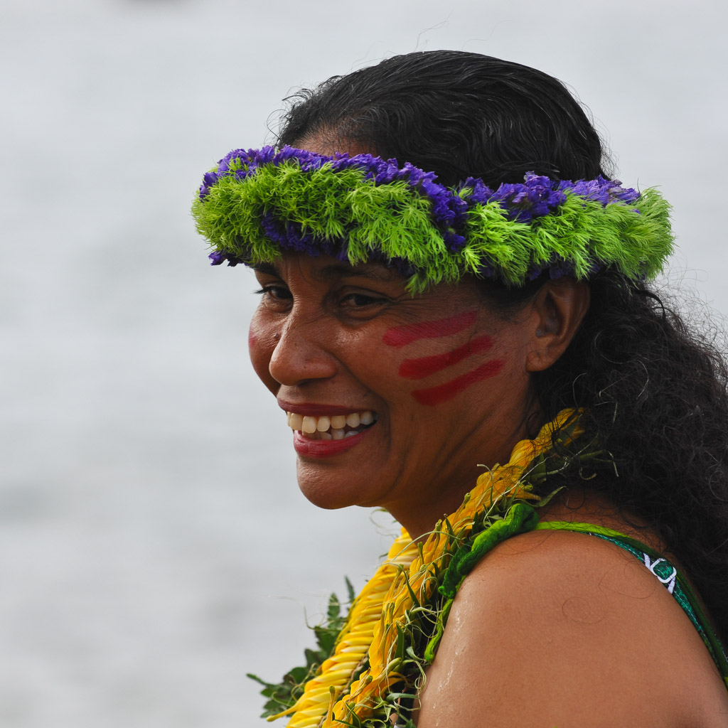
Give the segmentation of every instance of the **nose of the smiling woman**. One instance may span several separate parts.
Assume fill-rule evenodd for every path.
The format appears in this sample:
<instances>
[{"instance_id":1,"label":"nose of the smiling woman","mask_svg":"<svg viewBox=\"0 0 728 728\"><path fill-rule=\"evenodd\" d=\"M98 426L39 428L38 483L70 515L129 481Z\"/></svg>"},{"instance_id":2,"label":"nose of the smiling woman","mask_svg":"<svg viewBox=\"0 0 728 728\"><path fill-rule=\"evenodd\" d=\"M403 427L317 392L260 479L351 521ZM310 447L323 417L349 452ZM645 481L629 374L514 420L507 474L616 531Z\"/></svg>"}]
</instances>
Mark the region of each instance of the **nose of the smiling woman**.
<instances>
[{"instance_id":1,"label":"nose of the smiling woman","mask_svg":"<svg viewBox=\"0 0 728 728\"><path fill-rule=\"evenodd\" d=\"M336 359L327 345L331 335L320 321L291 316L274 339L268 371L279 384L292 387L312 379L329 379L336 373Z\"/></svg>"}]
</instances>

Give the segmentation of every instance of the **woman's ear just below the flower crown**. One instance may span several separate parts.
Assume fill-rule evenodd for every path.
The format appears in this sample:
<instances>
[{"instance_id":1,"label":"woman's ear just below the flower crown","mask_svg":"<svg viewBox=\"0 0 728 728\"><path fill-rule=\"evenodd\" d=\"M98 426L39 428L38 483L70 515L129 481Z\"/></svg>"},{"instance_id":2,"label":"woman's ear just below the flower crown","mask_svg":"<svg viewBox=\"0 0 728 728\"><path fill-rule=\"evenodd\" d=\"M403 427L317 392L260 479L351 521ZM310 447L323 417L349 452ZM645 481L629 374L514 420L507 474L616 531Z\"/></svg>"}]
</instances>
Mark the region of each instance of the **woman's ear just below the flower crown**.
<instances>
[{"instance_id":1,"label":"woman's ear just below the flower crown","mask_svg":"<svg viewBox=\"0 0 728 728\"><path fill-rule=\"evenodd\" d=\"M531 303L536 329L526 357L527 371L549 368L571 343L589 310L590 290L574 278L544 283Z\"/></svg>"}]
</instances>

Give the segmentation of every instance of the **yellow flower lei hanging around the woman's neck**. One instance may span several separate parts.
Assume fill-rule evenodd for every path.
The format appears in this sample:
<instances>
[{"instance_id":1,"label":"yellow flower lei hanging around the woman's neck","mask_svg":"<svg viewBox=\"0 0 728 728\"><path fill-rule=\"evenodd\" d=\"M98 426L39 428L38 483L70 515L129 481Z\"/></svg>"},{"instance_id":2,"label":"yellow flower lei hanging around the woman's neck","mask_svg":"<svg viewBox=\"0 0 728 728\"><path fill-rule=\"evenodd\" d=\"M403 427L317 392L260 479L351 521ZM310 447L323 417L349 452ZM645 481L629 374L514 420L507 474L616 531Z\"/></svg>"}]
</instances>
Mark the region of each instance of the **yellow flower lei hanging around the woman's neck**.
<instances>
[{"instance_id":1,"label":"yellow flower lei hanging around the woman's neck","mask_svg":"<svg viewBox=\"0 0 728 728\"><path fill-rule=\"evenodd\" d=\"M412 655L414 659L408 660L403 654L403 636L413 611L427 610L424 605L437 596L456 549L467 542L480 518L507 513L516 501L539 500L530 491L547 474L545 454L552 447L553 433L559 432L564 444L580 435L577 414L573 409L561 411L537 438L521 440L507 464L483 472L458 510L440 521L424 543L414 542L402 529L387 559L353 601L331 657L306 682L296 703L268 720L293 714L286 728L333 728L360 725L374 716L386 703L389 689L403 681L405 667L427 661ZM523 482L526 478L528 483ZM430 609L430 614L438 617L441 633L443 617L446 620L443 608Z\"/></svg>"}]
</instances>

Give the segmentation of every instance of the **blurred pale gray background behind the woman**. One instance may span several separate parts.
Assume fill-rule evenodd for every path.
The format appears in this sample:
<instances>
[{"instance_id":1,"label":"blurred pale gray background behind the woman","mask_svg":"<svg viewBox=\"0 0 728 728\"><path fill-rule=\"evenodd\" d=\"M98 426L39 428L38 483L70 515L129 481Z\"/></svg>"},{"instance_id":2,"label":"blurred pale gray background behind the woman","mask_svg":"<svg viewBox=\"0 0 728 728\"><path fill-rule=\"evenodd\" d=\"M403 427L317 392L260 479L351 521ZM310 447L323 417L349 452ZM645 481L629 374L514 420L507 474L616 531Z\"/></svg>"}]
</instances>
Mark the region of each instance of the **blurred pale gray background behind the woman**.
<instances>
[{"instance_id":1,"label":"blurred pale gray background behind the woman","mask_svg":"<svg viewBox=\"0 0 728 728\"><path fill-rule=\"evenodd\" d=\"M250 274L210 268L202 173L301 85L412 50L537 66L629 186L660 186L668 278L728 310L718 0L3 0L0 725L263 725L343 574L395 531L298 493L246 351ZM305 612L305 614L304 614Z\"/></svg>"}]
</instances>

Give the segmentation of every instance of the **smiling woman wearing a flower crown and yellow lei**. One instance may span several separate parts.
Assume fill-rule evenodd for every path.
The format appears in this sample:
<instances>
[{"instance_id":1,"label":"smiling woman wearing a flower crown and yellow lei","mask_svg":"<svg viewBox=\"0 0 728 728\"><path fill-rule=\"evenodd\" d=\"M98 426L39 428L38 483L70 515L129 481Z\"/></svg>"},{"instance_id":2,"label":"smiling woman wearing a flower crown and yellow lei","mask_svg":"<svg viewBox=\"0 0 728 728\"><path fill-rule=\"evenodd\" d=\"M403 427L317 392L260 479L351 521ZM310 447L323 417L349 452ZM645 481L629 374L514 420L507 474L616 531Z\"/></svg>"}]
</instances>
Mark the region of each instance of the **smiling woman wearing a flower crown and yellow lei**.
<instances>
[{"instance_id":1,"label":"smiling woman wearing a flower crown and yellow lei","mask_svg":"<svg viewBox=\"0 0 728 728\"><path fill-rule=\"evenodd\" d=\"M205 175L301 490L404 526L264 691L289 726L728 725L726 370L646 283L666 203L603 159L560 82L436 51Z\"/></svg>"}]
</instances>

